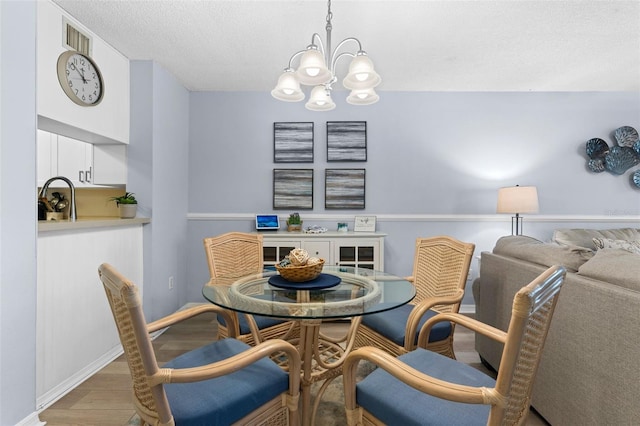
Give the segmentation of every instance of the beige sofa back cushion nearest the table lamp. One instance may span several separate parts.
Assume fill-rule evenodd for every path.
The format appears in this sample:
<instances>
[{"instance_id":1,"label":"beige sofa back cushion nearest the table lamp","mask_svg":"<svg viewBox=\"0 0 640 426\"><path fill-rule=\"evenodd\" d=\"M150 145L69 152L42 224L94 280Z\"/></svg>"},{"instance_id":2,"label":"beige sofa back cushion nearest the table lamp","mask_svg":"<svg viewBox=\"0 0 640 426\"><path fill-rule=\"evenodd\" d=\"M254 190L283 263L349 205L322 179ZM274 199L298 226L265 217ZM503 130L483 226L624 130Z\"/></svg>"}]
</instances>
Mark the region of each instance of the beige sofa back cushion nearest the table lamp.
<instances>
[{"instance_id":1,"label":"beige sofa back cushion nearest the table lamp","mask_svg":"<svg viewBox=\"0 0 640 426\"><path fill-rule=\"evenodd\" d=\"M543 266L562 265L569 272L576 272L593 256L593 251L584 247L543 243L524 235L500 238L493 252Z\"/></svg>"}]
</instances>

